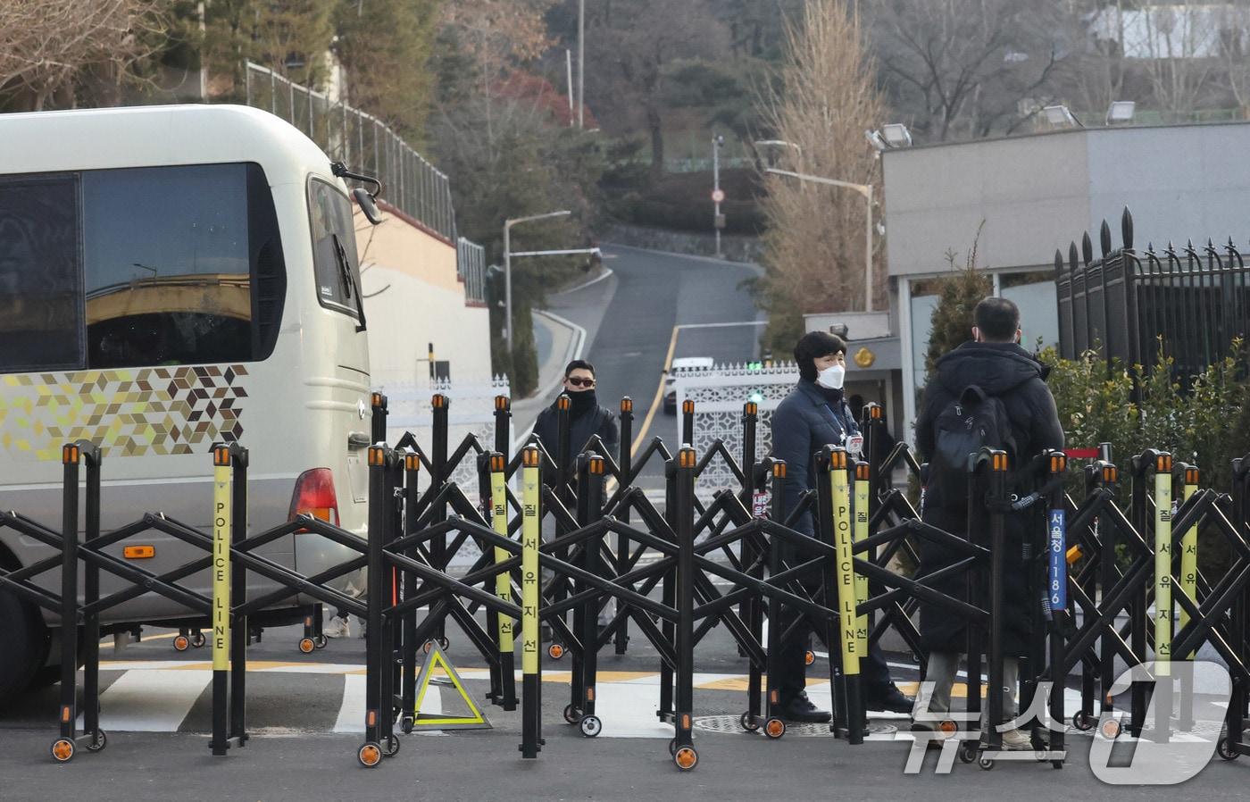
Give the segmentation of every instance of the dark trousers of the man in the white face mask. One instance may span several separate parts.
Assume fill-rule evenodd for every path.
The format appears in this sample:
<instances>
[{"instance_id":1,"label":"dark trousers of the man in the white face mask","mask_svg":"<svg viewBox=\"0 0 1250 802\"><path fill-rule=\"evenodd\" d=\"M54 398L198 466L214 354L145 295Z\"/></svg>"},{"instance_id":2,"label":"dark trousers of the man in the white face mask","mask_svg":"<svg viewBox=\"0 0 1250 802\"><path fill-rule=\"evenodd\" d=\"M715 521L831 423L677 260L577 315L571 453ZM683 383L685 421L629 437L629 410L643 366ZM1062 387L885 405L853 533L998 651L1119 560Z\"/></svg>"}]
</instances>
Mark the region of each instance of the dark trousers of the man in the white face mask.
<instances>
[{"instance_id":1,"label":"dark trousers of the man in the white face mask","mask_svg":"<svg viewBox=\"0 0 1250 802\"><path fill-rule=\"evenodd\" d=\"M781 559L785 561L789 568L795 568L811 558L810 552L800 552L792 546L784 546L781 548ZM820 599L818 596L818 591L820 589L819 568L814 568L809 572L809 576L802 578L802 587L809 597ZM832 608L836 606L836 588L829 588L828 593L829 597L825 598L825 606ZM802 621L795 627L794 634L788 638L785 637L785 632L794 623L795 618L802 618ZM769 673L772 674L775 687L780 691L784 703L808 687L808 649L811 643L812 627L811 621L802 616L801 612L789 607L781 608L780 622L769 622L769 627L772 626L781 627L782 638L778 654L772 656L769 661ZM836 627L834 632L836 636ZM834 661L835 666L841 663L842 652L836 641L829 646L829 659ZM885 657L881 656L881 649L875 642L869 644L868 657L860 661L860 677L862 679L864 693L868 698L882 696L894 682L890 677L890 667L886 666Z\"/></svg>"}]
</instances>

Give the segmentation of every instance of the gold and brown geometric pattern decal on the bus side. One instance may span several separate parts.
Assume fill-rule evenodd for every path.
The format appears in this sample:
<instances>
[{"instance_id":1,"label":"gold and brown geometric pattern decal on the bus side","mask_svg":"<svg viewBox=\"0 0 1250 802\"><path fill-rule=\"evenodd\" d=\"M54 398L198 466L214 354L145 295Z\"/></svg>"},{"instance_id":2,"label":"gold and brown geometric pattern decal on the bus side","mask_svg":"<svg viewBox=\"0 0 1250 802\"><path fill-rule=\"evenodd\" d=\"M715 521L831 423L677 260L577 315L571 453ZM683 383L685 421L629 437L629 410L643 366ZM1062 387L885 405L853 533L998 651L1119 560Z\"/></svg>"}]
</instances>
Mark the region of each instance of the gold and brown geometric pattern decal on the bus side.
<instances>
[{"instance_id":1,"label":"gold and brown geometric pattern decal on the bus side","mask_svg":"<svg viewBox=\"0 0 1250 802\"><path fill-rule=\"evenodd\" d=\"M244 365L9 374L0 450L60 459L84 439L106 457L206 453L242 437L246 375Z\"/></svg>"}]
</instances>

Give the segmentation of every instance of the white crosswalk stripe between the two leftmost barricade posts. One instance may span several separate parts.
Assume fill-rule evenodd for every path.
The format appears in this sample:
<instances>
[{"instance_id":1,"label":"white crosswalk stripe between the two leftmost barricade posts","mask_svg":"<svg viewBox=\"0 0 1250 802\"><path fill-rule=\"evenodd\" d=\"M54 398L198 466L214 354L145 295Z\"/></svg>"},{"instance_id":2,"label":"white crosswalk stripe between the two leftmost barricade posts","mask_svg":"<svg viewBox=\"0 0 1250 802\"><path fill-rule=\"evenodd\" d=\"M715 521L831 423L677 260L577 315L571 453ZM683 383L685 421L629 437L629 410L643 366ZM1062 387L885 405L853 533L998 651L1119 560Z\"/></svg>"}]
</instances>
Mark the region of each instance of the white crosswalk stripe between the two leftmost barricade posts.
<instances>
[{"instance_id":1,"label":"white crosswalk stripe between the two leftmost barricade posts","mask_svg":"<svg viewBox=\"0 0 1250 802\"><path fill-rule=\"evenodd\" d=\"M211 671L128 671L100 694L100 727L176 732L212 679Z\"/></svg>"}]
</instances>

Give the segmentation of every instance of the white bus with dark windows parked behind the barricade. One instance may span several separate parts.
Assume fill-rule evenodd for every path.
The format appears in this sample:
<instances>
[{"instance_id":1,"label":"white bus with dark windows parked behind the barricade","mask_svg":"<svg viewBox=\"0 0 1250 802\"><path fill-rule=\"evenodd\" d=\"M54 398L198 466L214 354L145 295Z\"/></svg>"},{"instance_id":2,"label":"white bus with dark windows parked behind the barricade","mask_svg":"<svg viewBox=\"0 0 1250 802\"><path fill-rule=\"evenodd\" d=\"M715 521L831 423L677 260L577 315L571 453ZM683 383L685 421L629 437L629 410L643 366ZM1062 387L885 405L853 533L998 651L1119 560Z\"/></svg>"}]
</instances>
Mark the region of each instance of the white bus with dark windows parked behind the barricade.
<instances>
[{"instance_id":1,"label":"white bus with dark windows parked behind the barricade","mask_svg":"<svg viewBox=\"0 0 1250 802\"><path fill-rule=\"evenodd\" d=\"M225 440L250 452L254 532L311 512L362 536L371 422L355 243L330 158L268 113L0 115L0 508L60 529L61 445L86 439L102 447L105 532L144 512L206 530L210 445ZM202 557L145 538L155 557L142 566L158 573ZM8 568L49 553L0 529ZM306 574L355 556L300 534L259 553ZM40 584L59 592L59 572ZM206 572L186 584L210 588ZM101 572L101 593L116 587ZM189 614L149 593L102 623ZM0 702L58 662L56 626L0 588Z\"/></svg>"}]
</instances>

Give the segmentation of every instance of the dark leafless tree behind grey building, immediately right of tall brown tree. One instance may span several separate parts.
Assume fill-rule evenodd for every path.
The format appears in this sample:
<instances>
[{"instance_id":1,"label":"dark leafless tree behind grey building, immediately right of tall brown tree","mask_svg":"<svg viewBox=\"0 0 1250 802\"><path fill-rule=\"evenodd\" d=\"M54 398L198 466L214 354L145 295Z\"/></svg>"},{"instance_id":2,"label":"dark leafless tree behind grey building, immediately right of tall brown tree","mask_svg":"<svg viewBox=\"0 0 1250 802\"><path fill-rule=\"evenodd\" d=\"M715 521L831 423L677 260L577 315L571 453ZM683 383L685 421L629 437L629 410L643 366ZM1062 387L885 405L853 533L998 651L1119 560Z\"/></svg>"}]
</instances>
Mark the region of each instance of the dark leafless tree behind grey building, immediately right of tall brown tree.
<instances>
[{"instance_id":1,"label":"dark leafless tree behind grey building, immediately right of tall brown tree","mask_svg":"<svg viewBox=\"0 0 1250 802\"><path fill-rule=\"evenodd\" d=\"M1054 93L1064 3L861 0L890 105L930 140L1010 133Z\"/></svg>"}]
</instances>

